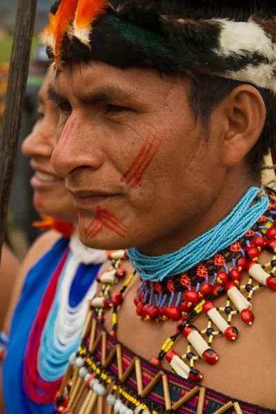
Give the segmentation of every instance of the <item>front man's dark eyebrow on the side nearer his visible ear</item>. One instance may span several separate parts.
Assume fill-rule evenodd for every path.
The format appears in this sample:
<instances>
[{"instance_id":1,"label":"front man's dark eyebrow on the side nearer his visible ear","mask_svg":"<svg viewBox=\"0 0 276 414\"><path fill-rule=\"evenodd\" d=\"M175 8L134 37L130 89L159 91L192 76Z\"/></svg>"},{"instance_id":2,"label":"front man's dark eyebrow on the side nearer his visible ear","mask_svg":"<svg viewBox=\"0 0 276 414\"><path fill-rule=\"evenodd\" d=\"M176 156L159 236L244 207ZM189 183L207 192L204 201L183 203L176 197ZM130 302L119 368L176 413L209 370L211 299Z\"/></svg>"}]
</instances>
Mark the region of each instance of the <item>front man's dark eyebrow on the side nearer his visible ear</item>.
<instances>
[{"instance_id":1,"label":"front man's dark eyebrow on the side nearer his visible ear","mask_svg":"<svg viewBox=\"0 0 276 414\"><path fill-rule=\"evenodd\" d=\"M81 94L77 97L79 103L84 106L91 105L93 103L100 103L106 101L125 101L135 97L135 94L130 90L125 90L119 86L106 86L91 90L86 94Z\"/></svg>"}]
</instances>

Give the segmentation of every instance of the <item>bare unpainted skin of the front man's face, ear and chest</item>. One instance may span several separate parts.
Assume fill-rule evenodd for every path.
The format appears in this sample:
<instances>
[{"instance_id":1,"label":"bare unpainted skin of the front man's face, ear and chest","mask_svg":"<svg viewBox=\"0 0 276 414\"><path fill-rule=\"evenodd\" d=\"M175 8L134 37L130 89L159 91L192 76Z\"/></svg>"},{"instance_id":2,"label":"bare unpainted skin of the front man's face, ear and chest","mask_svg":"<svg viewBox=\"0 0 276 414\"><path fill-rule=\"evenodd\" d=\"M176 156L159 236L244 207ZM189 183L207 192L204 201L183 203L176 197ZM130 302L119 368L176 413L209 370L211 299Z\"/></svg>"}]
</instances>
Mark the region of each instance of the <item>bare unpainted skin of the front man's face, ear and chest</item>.
<instances>
[{"instance_id":1,"label":"bare unpainted skin of the front man's face, ear and chest","mask_svg":"<svg viewBox=\"0 0 276 414\"><path fill-rule=\"evenodd\" d=\"M246 155L264 126L262 97L251 86L235 88L213 112L206 139L206 131L190 110L189 87L189 79L160 76L149 69L122 71L99 62L72 65L52 82L50 95L61 108L52 163L75 196L83 217L84 244L109 249L139 246L148 255L171 253L217 224L250 186L259 185L250 174ZM121 89L129 96L121 96ZM62 132L71 117L77 121L64 148ZM156 136L161 144L139 184L131 188L121 177L137 163L149 136ZM113 196L99 197L99 193ZM116 215L128 229L126 237L106 227L88 237L86 228L95 219L97 206ZM126 267L130 274L132 269ZM118 337L150 359L175 332L175 323L166 322L161 328L155 322L139 322L133 305L138 286L137 278L120 308ZM212 368L204 365L203 384L276 408L273 297L268 289L256 295L254 311L259 316L253 327L236 319L242 339L235 346L223 338L218 341L215 349L221 360ZM109 313L108 330L111 321ZM202 324L201 317L196 324ZM176 351L184 351L181 340Z\"/></svg>"}]
</instances>

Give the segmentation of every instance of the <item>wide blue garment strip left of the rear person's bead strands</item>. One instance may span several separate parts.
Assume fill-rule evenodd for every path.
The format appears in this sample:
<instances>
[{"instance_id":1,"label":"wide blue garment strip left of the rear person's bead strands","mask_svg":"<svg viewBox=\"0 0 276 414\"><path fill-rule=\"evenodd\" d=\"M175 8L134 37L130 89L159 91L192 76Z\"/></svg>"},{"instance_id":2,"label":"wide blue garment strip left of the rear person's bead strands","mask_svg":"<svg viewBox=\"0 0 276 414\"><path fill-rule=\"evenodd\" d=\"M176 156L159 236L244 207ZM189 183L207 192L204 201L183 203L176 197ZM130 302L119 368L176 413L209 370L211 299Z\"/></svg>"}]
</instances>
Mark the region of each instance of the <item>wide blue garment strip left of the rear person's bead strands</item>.
<instances>
[{"instance_id":1,"label":"wide blue garment strip left of the rear person's bead strands","mask_svg":"<svg viewBox=\"0 0 276 414\"><path fill-rule=\"evenodd\" d=\"M23 390L23 358L41 297L68 243L68 239L59 239L48 253L30 269L23 285L21 298L12 318L8 352L3 362L6 414L55 414L54 404L37 406L26 397Z\"/></svg>"}]
</instances>

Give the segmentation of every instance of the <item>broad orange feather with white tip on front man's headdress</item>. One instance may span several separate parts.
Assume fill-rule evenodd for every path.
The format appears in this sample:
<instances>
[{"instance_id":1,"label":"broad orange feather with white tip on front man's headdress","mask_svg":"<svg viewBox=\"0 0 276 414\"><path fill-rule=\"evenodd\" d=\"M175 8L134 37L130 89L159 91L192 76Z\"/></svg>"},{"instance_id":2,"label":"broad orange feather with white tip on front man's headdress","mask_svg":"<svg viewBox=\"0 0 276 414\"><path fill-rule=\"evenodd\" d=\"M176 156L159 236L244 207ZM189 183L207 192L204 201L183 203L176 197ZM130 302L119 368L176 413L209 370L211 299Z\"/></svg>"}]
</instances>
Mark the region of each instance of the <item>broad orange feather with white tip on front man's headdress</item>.
<instances>
[{"instance_id":1,"label":"broad orange feather with white tip on front man's headdress","mask_svg":"<svg viewBox=\"0 0 276 414\"><path fill-rule=\"evenodd\" d=\"M88 48L91 48L89 36L92 23L103 14L106 14L109 6L108 0L79 0L73 23L73 34Z\"/></svg>"}]
</instances>

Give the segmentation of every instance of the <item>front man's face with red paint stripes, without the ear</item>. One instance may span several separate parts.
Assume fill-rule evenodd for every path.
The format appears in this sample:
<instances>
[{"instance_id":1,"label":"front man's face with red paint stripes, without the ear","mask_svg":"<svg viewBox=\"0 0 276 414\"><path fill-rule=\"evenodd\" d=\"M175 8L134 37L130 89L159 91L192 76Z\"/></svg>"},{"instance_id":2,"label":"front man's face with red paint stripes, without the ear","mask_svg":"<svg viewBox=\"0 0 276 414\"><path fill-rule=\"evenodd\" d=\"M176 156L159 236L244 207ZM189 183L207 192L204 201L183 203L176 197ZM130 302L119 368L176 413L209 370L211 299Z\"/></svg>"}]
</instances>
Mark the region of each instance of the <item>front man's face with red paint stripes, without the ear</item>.
<instances>
[{"instance_id":1,"label":"front man's face with red paint stripes, without the ear","mask_svg":"<svg viewBox=\"0 0 276 414\"><path fill-rule=\"evenodd\" d=\"M213 203L222 126L213 119L206 139L188 91L187 79L98 62L52 83L61 110L52 163L74 196L83 244L173 251Z\"/></svg>"}]
</instances>

